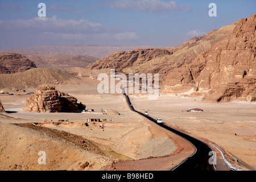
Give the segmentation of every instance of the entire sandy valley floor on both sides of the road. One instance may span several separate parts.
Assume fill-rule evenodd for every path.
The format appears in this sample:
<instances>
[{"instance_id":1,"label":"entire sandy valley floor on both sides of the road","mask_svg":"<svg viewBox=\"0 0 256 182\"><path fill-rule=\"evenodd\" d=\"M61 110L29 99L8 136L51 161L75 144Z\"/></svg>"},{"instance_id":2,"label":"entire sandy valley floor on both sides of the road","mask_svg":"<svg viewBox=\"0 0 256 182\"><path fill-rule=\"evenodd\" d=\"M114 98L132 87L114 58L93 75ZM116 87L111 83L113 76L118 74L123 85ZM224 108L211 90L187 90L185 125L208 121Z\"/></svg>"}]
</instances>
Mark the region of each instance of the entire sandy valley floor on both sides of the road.
<instances>
[{"instance_id":1,"label":"entire sandy valley floor on both sides of the road","mask_svg":"<svg viewBox=\"0 0 256 182\"><path fill-rule=\"evenodd\" d=\"M195 152L186 140L130 111L122 94L98 94L97 84L97 80L84 78L82 84L56 85L56 89L85 104L86 109L94 109L92 113L26 113L20 109L30 95L16 92L13 96L1 95L7 114L0 117L0 169L170 170ZM35 88L26 89L26 92L34 91ZM181 98L180 95L160 95L151 101L143 95L134 94L130 98L135 109L148 111L151 117L162 118L171 127L208 144L216 144L234 167L255 168L255 103L202 104L201 98ZM204 112L187 112L195 107ZM120 115L104 115L101 110L105 109L114 109ZM86 123L88 118L106 121ZM97 154L94 148L88 151L65 137L11 123L36 123L37 127L63 131L61 136L82 137L117 155ZM104 125L103 129L100 124ZM38 151L42 150L47 154L46 165L38 164ZM217 156L219 169L226 170L220 154Z\"/></svg>"}]
</instances>

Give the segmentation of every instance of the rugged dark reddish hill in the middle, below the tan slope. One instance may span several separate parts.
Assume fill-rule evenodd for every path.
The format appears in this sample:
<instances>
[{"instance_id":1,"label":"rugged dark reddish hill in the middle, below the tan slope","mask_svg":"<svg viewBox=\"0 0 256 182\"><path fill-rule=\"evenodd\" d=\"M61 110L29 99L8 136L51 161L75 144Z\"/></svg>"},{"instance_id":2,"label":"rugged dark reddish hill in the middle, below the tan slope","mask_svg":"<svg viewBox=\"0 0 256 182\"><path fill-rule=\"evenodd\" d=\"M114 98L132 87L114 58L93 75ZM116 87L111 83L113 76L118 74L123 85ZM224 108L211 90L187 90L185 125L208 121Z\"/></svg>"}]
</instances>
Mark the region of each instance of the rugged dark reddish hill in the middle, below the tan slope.
<instances>
[{"instance_id":1,"label":"rugged dark reddish hill in the middle, below the tan slope","mask_svg":"<svg viewBox=\"0 0 256 182\"><path fill-rule=\"evenodd\" d=\"M151 59L165 55L172 55L172 52L167 49L134 49L133 51L127 52L115 52L104 59L90 64L87 68L115 68L116 71L122 72L125 68L136 67Z\"/></svg>"}]
</instances>

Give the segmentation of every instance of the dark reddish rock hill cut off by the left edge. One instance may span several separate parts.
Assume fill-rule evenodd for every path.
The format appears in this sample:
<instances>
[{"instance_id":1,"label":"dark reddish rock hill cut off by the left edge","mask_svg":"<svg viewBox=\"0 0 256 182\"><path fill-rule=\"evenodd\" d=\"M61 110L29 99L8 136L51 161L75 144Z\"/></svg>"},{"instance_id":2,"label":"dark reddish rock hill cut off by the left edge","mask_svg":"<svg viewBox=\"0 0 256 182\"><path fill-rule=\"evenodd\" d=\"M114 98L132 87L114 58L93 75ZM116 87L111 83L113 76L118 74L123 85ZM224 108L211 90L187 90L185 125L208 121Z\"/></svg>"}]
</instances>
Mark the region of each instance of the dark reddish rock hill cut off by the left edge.
<instances>
[{"instance_id":1,"label":"dark reddish rock hill cut off by the left edge","mask_svg":"<svg viewBox=\"0 0 256 182\"><path fill-rule=\"evenodd\" d=\"M19 53L0 53L0 74L24 72L36 68L33 61Z\"/></svg>"}]
</instances>

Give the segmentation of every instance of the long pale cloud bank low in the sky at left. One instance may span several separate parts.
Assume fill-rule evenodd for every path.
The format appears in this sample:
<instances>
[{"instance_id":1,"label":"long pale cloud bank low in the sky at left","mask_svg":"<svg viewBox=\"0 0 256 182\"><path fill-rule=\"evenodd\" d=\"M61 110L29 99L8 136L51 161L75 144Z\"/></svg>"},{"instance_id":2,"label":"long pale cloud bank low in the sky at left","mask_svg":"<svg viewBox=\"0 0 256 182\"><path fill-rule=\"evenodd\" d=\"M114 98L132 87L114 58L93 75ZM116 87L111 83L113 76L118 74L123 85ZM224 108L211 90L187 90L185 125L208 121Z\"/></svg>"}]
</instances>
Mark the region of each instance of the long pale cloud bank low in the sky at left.
<instances>
[{"instance_id":1,"label":"long pale cloud bank low in the sky at left","mask_svg":"<svg viewBox=\"0 0 256 182\"><path fill-rule=\"evenodd\" d=\"M119 30L90 22L86 19L60 19L57 16L33 19L0 20L0 35L26 35L52 40L105 40L123 41L138 39L136 32ZM31 38L32 39L32 38Z\"/></svg>"}]
</instances>

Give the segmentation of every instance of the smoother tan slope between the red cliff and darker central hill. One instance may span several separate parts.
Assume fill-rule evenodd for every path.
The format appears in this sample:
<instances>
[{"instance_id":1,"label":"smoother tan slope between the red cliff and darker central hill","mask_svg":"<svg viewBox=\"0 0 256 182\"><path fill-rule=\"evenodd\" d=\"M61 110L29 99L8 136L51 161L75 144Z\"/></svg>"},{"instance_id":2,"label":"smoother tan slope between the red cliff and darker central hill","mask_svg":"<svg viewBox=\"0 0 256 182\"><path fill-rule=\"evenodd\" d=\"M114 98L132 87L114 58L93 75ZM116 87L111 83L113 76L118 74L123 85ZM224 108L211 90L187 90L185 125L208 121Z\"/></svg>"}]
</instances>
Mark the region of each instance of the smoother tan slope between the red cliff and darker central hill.
<instances>
[{"instance_id":1,"label":"smoother tan slope between the red cliff and darker central hill","mask_svg":"<svg viewBox=\"0 0 256 182\"><path fill-rule=\"evenodd\" d=\"M181 68L184 64L191 63L200 53L207 51L215 43L229 36L238 22L240 22L240 20L218 30L213 30L204 36L192 38L180 46L167 48L167 50L173 52L172 55L157 57L138 67L128 68L124 71L128 73L159 73L160 85L167 85L163 82L177 76L175 73L174 77L167 78L168 74L174 72L175 68ZM187 74L189 77L189 72ZM183 81L182 78L180 78L180 80ZM172 81L170 82L172 84Z\"/></svg>"}]
</instances>

